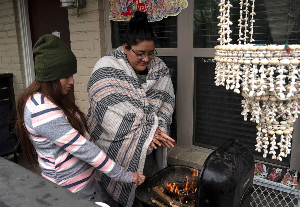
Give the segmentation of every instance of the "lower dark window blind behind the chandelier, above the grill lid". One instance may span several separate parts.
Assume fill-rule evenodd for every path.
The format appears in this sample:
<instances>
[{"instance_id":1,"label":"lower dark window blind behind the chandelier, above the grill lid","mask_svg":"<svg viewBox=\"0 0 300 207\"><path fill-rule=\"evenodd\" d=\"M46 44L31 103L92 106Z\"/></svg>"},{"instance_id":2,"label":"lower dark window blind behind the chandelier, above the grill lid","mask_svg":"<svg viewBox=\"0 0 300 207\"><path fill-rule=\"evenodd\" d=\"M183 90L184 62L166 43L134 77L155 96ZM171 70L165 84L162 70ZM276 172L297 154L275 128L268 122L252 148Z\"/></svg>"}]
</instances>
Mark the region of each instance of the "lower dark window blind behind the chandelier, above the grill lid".
<instances>
[{"instance_id":1,"label":"lower dark window blind behind the chandelier, above the grill lid","mask_svg":"<svg viewBox=\"0 0 300 207\"><path fill-rule=\"evenodd\" d=\"M289 166L290 156L282 162L272 160L271 156L262 157L255 151L256 123L244 121L240 94L226 90L214 84L215 60L213 58L195 58L195 94L194 94L194 137L193 144L216 149L229 139L236 137L257 160Z\"/></svg>"}]
</instances>

